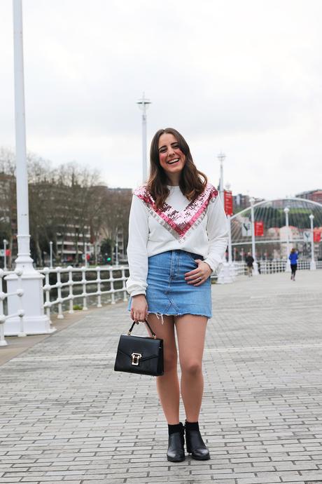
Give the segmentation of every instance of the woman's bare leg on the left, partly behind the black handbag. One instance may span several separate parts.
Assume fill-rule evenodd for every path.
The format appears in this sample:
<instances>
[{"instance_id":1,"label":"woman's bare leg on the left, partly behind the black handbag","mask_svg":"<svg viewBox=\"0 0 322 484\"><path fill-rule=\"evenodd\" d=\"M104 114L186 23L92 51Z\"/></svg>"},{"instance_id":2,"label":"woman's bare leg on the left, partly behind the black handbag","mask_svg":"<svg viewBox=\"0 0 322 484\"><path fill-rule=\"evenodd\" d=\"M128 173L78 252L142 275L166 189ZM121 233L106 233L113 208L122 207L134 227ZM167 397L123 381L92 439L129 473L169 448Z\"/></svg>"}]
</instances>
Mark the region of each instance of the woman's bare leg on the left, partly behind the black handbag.
<instances>
[{"instance_id":1,"label":"woman's bare leg on the left, partly behind the black handbag","mask_svg":"<svg viewBox=\"0 0 322 484\"><path fill-rule=\"evenodd\" d=\"M163 412L169 425L179 424L179 379L177 370L176 339L173 316L163 316L164 323L155 314L148 315L148 323L158 338L164 341L165 373L156 377Z\"/></svg>"}]
</instances>

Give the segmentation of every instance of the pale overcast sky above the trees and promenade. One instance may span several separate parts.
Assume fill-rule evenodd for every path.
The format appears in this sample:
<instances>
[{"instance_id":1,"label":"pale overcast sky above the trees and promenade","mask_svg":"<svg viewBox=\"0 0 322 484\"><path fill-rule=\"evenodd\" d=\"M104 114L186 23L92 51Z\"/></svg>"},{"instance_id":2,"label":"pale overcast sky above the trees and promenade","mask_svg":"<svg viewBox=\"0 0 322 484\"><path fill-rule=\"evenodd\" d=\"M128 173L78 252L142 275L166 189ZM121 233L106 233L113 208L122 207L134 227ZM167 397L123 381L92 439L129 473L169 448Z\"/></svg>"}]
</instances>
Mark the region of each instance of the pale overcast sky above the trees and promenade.
<instances>
[{"instance_id":1,"label":"pale overcast sky above the trees and promenade","mask_svg":"<svg viewBox=\"0 0 322 484\"><path fill-rule=\"evenodd\" d=\"M321 0L22 0L27 149L141 182L148 145L172 126L234 194L322 188ZM0 147L14 147L12 1L0 2Z\"/></svg>"}]
</instances>

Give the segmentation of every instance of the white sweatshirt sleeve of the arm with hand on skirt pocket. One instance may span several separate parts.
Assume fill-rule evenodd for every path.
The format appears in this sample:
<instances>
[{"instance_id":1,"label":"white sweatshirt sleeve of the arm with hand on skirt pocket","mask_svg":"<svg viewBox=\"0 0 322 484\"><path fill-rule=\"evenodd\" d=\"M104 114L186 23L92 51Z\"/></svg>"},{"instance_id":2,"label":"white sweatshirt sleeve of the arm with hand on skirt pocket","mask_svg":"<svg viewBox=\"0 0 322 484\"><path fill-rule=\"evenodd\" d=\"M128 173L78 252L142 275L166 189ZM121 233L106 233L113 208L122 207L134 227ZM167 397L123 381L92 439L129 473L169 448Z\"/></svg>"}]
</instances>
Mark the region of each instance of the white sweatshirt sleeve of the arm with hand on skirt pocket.
<instances>
[{"instance_id":1,"label":"white sweatshirt sleeve of the arm with hand on skirt pocket","mask_svg":"<svg viewBox=\"0 0 322 484\"><path fill-rule=\"evenodd\" d=\"M223 256L228 245L228 221L220 196L210 202L207 209L207 235L209 238L209 253L204 262L216 271L223 262Z\"/></svg>"}]
</instances>

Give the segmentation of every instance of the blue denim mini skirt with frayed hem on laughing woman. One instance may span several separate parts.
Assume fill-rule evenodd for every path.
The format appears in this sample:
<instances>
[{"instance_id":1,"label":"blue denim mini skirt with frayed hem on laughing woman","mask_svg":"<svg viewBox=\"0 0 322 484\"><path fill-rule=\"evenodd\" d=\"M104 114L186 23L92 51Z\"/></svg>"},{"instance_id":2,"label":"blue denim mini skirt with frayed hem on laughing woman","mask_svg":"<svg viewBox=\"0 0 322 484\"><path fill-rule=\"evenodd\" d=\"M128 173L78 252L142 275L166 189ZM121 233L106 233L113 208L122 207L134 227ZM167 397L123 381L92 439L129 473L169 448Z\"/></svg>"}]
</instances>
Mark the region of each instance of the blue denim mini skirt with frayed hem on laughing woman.
<instances>
[{"instance_id":1,"label":"blue denim mini skirt with frayed hem on laughing woman","mask_svg":"<svg viewBox=\"0 0 322 484\"><path fill-rule=\"evenodd\" d=\"M159 316L195 314L211 318L210 277L202 285L188 284L186 272L196 269L198 254L167 250L148 257L146 300L148 312ZM132 298L130 298L129 308Z\"/></svg>"}]
</instances>

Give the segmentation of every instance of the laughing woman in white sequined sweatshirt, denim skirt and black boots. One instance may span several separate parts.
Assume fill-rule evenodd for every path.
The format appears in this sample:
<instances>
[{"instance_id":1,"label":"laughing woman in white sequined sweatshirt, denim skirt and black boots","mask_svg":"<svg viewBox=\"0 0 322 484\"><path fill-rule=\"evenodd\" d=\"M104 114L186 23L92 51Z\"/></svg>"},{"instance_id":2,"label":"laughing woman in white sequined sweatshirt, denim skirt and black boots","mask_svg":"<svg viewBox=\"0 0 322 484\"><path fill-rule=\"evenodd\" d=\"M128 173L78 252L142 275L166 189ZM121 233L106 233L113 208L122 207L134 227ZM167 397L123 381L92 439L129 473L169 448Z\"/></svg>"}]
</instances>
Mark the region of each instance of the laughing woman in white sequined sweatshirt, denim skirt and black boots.
<instances>
[{"instance_id":1,"label":"laughing woman in white sequined sweatshirt, denim skirt and black boots","mask_svg":"<svg viewBox=\"0 0 322 484\"><path fill-rule=\"evenodd\" d=\"M227 243L227 219L218 191L197 170L183 136L173 128L158 130L151 142L150 177L132 200L127 290L131 318L147 319L164 340L165 374L156 379L168 423L170 462L185 459L185 432L192 457L210 458L198 425L202 354L211 318L210 276ZM179 422L180 393L185 426Z\"/></svg>"}]
</instances>

